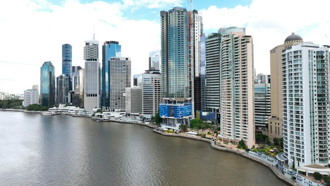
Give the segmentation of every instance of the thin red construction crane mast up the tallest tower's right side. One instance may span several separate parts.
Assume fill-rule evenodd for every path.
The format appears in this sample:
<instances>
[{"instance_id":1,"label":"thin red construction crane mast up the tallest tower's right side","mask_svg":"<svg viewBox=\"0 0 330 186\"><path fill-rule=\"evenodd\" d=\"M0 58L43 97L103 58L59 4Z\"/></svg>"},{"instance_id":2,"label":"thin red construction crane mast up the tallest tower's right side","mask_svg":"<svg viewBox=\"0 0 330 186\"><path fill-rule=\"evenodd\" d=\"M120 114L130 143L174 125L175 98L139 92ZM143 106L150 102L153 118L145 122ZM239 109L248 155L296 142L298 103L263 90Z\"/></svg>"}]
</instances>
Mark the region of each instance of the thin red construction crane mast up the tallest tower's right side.
<instances>
[{"instance_id":1,"label":"thin red construction crane mast up the tallest tower's right side","mask_svg":"<svg viewBox=\"0 0 330 186\"><path fill-rule=\"evenodd\" d=\"M193 47L193 12L192 12L192 0L188 0L190 2L190 82L191 82L191 118L195 118L195 108L194 108L194 77L195 77L195 69L194 69L194 47Z\"/></svg>"}]
</instances>

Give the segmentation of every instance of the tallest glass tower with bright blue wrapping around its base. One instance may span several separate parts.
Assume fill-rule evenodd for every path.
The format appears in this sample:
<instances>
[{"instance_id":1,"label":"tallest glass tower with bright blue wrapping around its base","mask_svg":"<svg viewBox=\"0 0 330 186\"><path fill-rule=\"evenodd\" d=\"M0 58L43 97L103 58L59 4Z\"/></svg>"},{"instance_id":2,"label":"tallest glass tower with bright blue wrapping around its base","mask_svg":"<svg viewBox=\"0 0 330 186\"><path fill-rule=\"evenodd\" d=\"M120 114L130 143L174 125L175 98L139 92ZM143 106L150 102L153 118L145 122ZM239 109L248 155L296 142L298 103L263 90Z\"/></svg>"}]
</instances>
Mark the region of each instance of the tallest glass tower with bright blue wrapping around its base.
<instances>
[{"instance_id":1,"label":"tallest glass tower with bright blue wrapping around its base","mask_svg":"<svg viewBox=\"0 0 330 186\"><path fill-rule=\"evenodd\" d=\"M189 73L189 15L185 8L176 7L168 12L161 11L160 20L163 103L159 106L159 115L163 118L164 128L177 131L181 124L189 123L193 111L189 97L189 84L193 78Z\"/></svg>"}]
</instances>

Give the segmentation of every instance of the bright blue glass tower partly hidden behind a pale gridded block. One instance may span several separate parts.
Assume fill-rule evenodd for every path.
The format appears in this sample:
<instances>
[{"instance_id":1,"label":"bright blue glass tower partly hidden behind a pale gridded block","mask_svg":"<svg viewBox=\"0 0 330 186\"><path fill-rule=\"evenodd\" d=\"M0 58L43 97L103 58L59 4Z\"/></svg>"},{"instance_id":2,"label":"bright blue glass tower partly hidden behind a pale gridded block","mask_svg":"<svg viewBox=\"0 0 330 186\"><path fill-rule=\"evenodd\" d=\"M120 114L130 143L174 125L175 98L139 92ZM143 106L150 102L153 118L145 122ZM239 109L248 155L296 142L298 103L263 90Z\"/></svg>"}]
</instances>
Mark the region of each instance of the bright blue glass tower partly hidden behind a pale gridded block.
<instances>
[{"instance_id":1,"label":"bright blue glass tower partly hidden behind a pale gridded block","mask_svg":"<svg viewBox=\"0 0 330 186\"><path fill-rule=\"evenodd\" d=\"M102 106L109 107L109 61L110 57L121 57L118 41L106 41L102 45ZM107 109L106 109L107 110Z\"/></svg>"}]
</instances>

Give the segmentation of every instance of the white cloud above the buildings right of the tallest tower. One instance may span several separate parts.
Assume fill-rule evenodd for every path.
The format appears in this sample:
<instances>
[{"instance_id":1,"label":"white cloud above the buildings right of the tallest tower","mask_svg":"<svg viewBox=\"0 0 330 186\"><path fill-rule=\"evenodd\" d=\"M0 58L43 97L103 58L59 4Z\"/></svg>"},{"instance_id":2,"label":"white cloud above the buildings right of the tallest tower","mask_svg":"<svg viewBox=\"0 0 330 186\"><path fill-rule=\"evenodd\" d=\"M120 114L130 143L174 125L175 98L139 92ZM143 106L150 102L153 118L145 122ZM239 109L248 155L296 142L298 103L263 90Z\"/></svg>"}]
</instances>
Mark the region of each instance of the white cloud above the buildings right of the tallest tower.
<instances>
[{"instance_id":1,"label":"white cloud above the buildings right of the tallest tower","mask_svg":"<svg viewBox=\"0 0 330 186\"><path fill-rule=\"evenodd\" d=\"M204 31L217 32L220 27L246 27L253 37L256 73L270 73L269 51L283 44L292 32L304 41L324 45L330 37L330 1L253 0L249 6L203 9Z\"/></svg>"}]
</instances>

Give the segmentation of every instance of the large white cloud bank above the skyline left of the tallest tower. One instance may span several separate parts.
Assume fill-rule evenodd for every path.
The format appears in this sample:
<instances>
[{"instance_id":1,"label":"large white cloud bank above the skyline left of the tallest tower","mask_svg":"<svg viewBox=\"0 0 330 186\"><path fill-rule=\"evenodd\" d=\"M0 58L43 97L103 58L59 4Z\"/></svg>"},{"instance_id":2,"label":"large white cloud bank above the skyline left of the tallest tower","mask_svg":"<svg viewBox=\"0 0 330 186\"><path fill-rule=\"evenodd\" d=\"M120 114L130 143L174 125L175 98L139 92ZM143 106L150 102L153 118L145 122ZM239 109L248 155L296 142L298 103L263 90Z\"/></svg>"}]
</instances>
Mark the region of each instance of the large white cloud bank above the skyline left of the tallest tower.
<instances>
[{"instance_id":1,"label":"large white cloud bank above the skyline left of the tallest tower","mask_svg":"<svg viewBox=\"0 0 330 186\"><path fill-rule=\"evenodd\" d=\"M161 2L160 2L161 3ZM61 74L61 45L73 47L73 65L84 66L85 40L118 41L122 56L131 57L132 74L148 69L149 51L160 49L157 21L124 17L122 3L65 1L56 6L47 1L0 3L0 91L23 92L40 83L40 67L52 61L55 75ZM47 10L47 11L45 11ZM7 81L8 77L11 81Z\"/></svg>"}]
</instances>

